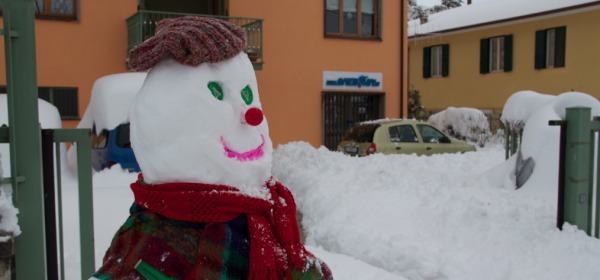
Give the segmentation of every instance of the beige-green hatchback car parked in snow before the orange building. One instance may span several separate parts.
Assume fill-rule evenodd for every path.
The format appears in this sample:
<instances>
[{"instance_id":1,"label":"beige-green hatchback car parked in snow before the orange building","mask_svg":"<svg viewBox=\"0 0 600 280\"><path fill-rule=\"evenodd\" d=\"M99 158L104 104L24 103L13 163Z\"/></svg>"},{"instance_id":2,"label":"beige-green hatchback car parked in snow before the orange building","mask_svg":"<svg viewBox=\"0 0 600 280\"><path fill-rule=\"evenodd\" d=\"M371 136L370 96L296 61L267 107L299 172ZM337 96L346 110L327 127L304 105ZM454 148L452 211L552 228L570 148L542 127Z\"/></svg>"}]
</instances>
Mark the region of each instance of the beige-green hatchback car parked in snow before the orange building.
<instances>
[{"instance_id":1,"label":"beige-green hatchback car parked in snow before the orange building","mask_svg":"<svg viewBox=\"0 0 600 280\"><path fill-rule=\"evenodd\" d=\"M384 119L358 123L348 129L338 151L351 156L432 155L475 151L475 146L452 138L424 121Z\"/></svg>"}]
</instances>

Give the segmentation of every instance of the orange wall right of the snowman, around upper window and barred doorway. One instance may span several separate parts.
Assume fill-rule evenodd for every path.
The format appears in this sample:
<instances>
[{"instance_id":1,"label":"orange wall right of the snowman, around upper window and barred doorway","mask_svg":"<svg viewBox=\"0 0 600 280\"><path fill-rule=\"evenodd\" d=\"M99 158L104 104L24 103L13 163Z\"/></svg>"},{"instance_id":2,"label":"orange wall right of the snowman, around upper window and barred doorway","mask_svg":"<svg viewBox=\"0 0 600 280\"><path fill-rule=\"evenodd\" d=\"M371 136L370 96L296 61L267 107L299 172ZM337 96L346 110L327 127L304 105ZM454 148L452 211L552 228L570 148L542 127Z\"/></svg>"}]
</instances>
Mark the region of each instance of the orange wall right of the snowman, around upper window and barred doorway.
<instances>
[{"instance_id":1,"label":"orange wall right of the snowman, around upper window and barred doorway","mask_svg":"<svg viewBox=\"0 0 600 280\"><path fill-rule=\"evenodd\" d=\"M275 144L322 142L323 71L382 72L385 115L400 114L400 2L383 0L382 41L323 37L323 1L229 0L229 14L263 18L263 109ZM405 1L402 1L405 2Z\"/></svg>"}]
</instances>

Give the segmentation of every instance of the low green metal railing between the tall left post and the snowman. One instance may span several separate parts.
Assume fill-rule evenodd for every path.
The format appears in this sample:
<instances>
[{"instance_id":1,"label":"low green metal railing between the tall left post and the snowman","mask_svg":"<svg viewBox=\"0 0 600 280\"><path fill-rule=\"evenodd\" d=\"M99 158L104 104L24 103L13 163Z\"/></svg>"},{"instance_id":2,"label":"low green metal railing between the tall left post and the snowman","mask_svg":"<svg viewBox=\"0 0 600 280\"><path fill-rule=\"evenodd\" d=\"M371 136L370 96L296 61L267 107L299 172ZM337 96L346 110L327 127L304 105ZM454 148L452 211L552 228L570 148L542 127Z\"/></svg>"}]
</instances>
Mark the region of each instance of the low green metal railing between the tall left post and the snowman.
<instances>
[{"instance_id":1,"label":"low green metal railing between the tall left post and the snowman","mask_svg":"<svg viewBox=\"0 0 600 280\"><path fill-rule=\"evenodd\" d=\"M8 143L8 127L0 127L0 143ZM89 129L43 129L42 161L43 161L43 207L45 217L46 269L48 279L65 278L65 258L63 240L63 200L62 200L62 163L61 143L76 143L77 183L79 205L79 237L81 256L81 279L89 278L95 271L94 263L94 213L92 194L92 160ZM4 178L0 184L11 184L14 178ZM24 205L23 207L33 207ZM23 243L23 246L28 246ZM30 267L36 267L30 264ZM19 271L15 271L17 279Z\"/></svg>"}]
</instances>

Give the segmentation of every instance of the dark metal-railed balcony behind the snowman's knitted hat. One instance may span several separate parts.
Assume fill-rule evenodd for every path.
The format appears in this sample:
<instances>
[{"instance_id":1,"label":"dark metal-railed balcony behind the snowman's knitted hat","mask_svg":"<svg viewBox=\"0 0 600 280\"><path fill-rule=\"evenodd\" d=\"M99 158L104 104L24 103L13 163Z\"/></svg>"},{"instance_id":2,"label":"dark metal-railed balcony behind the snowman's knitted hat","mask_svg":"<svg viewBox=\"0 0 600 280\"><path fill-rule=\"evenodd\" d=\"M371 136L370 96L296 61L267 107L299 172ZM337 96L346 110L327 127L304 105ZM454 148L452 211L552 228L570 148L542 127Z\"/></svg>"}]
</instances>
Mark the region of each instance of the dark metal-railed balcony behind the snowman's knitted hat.
<instances>
[{"instance_id":1,"label":"dark metal-railed balcony behind the snowman's knitted hat","mask_svg":"<svg viewBox=\"0 0 600 280\"><path fill-rule=\"evenodd\" d=\"M246 29L248 45L244 52L248 54L254 70L262 70L262 19L225 17L214 15L166 13L157 11L141 10L127 19L127 52L154 35L156 23L161 19L175 18L181 16L212 17L231 22Z\"/></svg>"}]
</instances>

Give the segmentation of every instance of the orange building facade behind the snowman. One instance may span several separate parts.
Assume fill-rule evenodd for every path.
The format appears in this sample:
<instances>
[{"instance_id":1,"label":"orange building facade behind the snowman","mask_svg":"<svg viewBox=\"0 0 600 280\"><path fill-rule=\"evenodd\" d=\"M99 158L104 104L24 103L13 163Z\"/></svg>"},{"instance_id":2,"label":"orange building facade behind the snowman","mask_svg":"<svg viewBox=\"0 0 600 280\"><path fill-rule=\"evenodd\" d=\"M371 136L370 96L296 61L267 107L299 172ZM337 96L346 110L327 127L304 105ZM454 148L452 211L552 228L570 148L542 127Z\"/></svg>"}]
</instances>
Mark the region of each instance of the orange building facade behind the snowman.
<instances>
[{"instance_id":1,"label":"orange building facade behind the snowman","mask_svg":"<svg viewBox=\"0 0 600 280\"><path fill-rule=\"evenodd\" d=\"M34 2L40 96L59 107L63 127L77 126L96 79L128 71L127 50L151 35L156 21L184 14L246 28L275 145L335 149L355 122L406 115L407 1Z\"/></svg>"}]
</instances>

